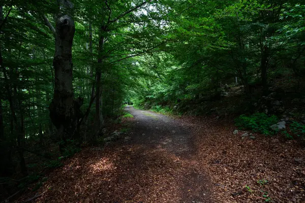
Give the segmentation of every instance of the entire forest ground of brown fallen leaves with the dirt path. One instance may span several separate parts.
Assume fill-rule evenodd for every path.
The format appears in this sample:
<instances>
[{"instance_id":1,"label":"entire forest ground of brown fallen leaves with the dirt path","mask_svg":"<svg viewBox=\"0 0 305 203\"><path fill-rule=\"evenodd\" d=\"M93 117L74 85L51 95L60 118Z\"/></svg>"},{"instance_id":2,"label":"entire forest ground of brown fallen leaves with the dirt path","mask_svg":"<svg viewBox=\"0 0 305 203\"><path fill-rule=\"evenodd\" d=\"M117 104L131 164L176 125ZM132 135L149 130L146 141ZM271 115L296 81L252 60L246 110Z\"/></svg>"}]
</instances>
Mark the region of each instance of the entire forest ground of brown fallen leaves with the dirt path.
<instances>
[{"instance_id":1,"label":"entire forest ground of brown fallen leaves with the dirt path","mask_svg":"<svg viewBox=\"0 0 305 203\"><path fill-rule=\"evenodd\" d=\"M295 141L242 139L231 119L126 110L127 139L83 149L20 202L305 202Z\"/></svg>"}]
</instances>

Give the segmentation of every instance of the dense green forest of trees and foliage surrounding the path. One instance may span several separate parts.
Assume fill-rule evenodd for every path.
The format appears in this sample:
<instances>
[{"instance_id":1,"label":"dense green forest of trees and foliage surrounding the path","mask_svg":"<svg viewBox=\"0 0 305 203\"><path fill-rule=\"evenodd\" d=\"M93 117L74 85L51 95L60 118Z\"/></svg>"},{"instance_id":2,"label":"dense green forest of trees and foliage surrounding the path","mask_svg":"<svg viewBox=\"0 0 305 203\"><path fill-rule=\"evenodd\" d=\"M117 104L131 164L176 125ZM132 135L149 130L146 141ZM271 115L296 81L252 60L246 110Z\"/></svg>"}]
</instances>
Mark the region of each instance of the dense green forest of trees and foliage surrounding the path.
<instances>
[{"instance_id":1,"label":"dense green forest of trees and foliage surrounding the path","mask_svg":"<svg viewBox=\"0 0 305 203\"><path fill-rule=\"evenodd\" d=\"M302 1L4 0L0 66L4 196L98 144L124 104L291 114L305 132Z\"/></svg>"}]
</instances>

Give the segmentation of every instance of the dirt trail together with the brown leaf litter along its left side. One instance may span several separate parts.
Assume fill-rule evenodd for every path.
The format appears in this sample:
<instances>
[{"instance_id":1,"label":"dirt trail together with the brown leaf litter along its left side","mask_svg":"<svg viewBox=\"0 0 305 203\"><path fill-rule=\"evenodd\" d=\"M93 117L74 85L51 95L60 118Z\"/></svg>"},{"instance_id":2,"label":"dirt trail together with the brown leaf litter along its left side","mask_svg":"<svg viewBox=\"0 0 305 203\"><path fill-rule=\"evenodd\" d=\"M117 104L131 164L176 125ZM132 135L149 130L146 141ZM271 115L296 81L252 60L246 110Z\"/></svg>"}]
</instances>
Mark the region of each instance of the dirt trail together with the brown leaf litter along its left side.
<instances>
[{"instance_id":1,"label":"dirt trail together with the brown leaf litter along its left side","mask_svg":"<svg viewBox=\"0 0 305 203\"><path fill-rule=\"evenodd\" d=\"M130 140L83 149L18 202L40 194L35 202L211 202L190 131L164 115L126 110L134 116Z\"/></svg>"}]
</instances>

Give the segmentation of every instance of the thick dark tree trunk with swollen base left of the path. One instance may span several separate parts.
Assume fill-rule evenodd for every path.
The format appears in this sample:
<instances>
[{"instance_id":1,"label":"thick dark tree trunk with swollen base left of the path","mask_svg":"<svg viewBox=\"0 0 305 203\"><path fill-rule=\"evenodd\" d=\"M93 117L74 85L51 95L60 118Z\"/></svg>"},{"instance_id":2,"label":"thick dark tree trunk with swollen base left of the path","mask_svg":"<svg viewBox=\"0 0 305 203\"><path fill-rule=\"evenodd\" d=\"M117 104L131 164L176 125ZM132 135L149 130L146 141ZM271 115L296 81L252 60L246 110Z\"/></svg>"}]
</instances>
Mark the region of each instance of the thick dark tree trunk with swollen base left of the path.
<instances>
[{"instance_id":1,"label":"thick dark tree trunk with swollen base left of the path","mask_svg":"<svg viewBox=\"0 0 305 203\"><path fill-rule=\"evenodd\" d=\"M76 129L76 112L80 105L74 101L72 85L72 43L75 24L72 17L64 15L56 20L55 55L53 67L55 71L55 89L50 104L50 117L57 128L57 139L62 140L59 149L63 152L67 137L72 137Z\"/></svg>"}]
</instances>

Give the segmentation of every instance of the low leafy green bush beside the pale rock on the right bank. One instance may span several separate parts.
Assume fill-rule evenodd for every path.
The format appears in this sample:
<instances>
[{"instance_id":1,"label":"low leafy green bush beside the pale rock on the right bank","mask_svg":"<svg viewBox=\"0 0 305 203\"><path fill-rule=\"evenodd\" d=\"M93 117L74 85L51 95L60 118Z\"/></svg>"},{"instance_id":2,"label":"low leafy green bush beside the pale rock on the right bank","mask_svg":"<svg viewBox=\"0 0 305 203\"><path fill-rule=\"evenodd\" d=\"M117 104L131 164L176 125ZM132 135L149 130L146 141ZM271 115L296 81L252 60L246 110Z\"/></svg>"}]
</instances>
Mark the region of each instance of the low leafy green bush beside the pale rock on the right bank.
<instances>
[{"instance_id":1,"label":"low leafy green bush beside the pale rock on the right bank","mask_svg":"<svg viewBox=\"0 0 305 203\"><path fill-rule=\"evenodd\" d=\"M264 113L255 113L251 116L240 115L235 119L235 125L240 129L250 129L263 134L273 134L270 126L278 122L277 116L267 116Z\"/></svg>"}]
</instances>

